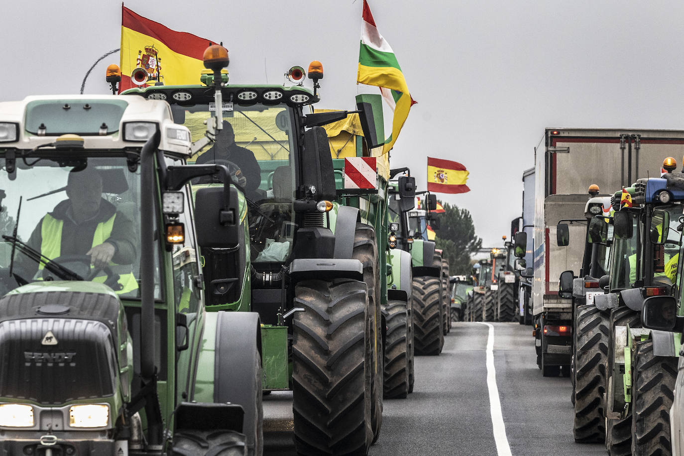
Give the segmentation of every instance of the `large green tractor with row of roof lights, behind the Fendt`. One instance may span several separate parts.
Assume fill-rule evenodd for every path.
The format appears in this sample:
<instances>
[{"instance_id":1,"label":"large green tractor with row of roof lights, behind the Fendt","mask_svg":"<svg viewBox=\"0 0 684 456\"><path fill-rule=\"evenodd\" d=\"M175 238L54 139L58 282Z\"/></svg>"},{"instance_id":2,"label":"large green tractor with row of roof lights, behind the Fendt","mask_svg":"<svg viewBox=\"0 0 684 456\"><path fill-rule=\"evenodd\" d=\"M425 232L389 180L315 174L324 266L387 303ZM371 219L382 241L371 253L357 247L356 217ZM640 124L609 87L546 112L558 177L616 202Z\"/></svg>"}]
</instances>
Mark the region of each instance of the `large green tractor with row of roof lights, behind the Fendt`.
<instances>
[{"instance_id":1,"label":"large green tractor with row of roof lights, behind the Fendt","mask_svg":"<svg viewBox=\"0 0 684 456\"><path fill-rule=\"evenodd\" d=\"M238 247L202 250L207 310L258 312L263 389L293 391L299 454L365 455L382 424L385 189L380 178L372 189L336 187L343 163L333 162L322 126L350 113L304 113L319 100L319 62L308 71L313 91L300 67L289 86L229 84L220 66L212 70L202 84L124 92L168 100L174 121L207 144L196 162L226 165L239 188ZM357 96L363 158L380 146L378 101ZM214 136L209 148L202 138Z\"/></svg>"}]
</instances>

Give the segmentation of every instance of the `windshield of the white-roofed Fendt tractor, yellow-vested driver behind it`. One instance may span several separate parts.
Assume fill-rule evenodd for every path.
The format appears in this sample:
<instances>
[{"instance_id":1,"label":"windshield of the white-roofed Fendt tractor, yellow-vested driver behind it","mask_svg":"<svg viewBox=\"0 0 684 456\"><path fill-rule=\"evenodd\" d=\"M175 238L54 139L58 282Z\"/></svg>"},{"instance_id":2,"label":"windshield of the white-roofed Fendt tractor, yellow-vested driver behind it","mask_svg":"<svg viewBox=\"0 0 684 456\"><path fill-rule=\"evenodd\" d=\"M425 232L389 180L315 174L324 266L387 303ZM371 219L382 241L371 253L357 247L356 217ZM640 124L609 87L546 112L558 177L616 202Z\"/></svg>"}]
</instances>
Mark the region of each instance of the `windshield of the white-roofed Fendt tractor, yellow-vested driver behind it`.
<instances>
[{"instance_id":1,"label":"windshield of the white-roofed Fendt tractor, yellow-vested driver behind it","mask_svg":"<svg viewBox=\"0 0 684 456\"><path fill-rule=\"evenodd\" d=\"M5 159L0 166L0 293L39 280L92 280L139 297L139 170L87 150L34 152L11 174ZM159 298L159 267L155 279Z\"/></svg>"}]
</instances>

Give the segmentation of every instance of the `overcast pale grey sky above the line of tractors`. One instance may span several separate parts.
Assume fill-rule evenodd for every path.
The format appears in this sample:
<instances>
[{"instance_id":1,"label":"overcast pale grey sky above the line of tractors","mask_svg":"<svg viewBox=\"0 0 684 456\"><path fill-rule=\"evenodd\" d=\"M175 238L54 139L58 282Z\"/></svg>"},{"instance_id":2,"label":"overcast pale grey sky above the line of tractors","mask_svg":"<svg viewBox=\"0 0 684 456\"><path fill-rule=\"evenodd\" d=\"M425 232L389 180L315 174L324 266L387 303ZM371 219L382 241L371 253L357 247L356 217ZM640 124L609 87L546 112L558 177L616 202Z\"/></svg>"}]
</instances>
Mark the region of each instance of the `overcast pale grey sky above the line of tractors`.
<instances>
[{"instance_id":1,"label":"overcast pale grey sky above the line of tractors","mask_svg":"<svg viewBox=\"0 0 684 456\"><path fill-rule=\"evenodd\" d=\"M223 41L231 82L282 83L320 60L318 107L354 109L363 0L130 0L171 29ZM521 215L544 127L684 129L683 1L370 0L418 104L392 151L425 188L427 155L463 163L485 246ZM196 9L193 9L196 8ZM120 46L120 1L4 1L0 100L78 93ZM106 94L107 64L86 94ZM676 157L678 160L681 157ZM609 170L607 170L609 172Z\"/></svg>"}]
</instances>

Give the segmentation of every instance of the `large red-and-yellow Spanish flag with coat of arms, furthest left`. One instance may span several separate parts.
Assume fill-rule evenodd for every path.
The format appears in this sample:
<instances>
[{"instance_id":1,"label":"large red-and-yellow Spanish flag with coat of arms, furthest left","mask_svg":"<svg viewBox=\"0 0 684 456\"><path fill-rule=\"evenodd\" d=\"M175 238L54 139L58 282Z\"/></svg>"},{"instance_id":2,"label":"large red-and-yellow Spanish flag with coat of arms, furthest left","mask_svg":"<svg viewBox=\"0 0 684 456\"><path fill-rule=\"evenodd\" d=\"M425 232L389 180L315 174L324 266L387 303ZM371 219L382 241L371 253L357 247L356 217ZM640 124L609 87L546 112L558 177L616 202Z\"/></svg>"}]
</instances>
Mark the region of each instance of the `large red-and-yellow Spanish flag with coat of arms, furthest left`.
<instances>
[{"instance_id":1,"label":"large red-and-yellow Spanish flag with coat of arms, furthest left","mask_svg":"<svg viewBox=\"0 0 684 456\"><path fill-rule=\"evenodd\" d=\"M148 83L198 84L205 69L202 55L213 44L192 33L174 31L135 14L122 5L121 83L119 92L138 87L131 81L135 68L148 73Z\"/></svg>"}]
</instances>

